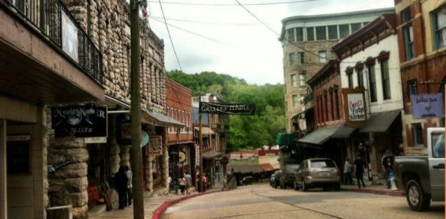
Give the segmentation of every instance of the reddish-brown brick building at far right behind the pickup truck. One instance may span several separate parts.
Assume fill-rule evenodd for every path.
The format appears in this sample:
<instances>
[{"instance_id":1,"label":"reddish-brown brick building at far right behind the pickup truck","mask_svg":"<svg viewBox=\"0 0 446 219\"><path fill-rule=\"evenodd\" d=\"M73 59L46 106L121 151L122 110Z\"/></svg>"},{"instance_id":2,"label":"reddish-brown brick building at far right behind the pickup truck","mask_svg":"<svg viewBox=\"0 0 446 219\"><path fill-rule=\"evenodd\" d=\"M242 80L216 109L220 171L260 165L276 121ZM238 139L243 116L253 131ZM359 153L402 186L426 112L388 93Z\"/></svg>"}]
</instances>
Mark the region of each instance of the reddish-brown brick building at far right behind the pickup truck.
<instances>
[{"instance_id":1,"label":"reddish-brown brick building at far right behind the pickup truck","mask_svg":"<svg viewBox=\"0 0 446 219\"><path fill-rule=\"evenodd\" d=\"M425 112L411 98L444 109L446 83L446 1L395 0L401 86L403 88L403 145L406 154L427 154L428 127L444 127L444 111ZM427 107L429 108L429 107ZM429 108L430 109L430 108Z\"/></svg>"}]
</instances>

